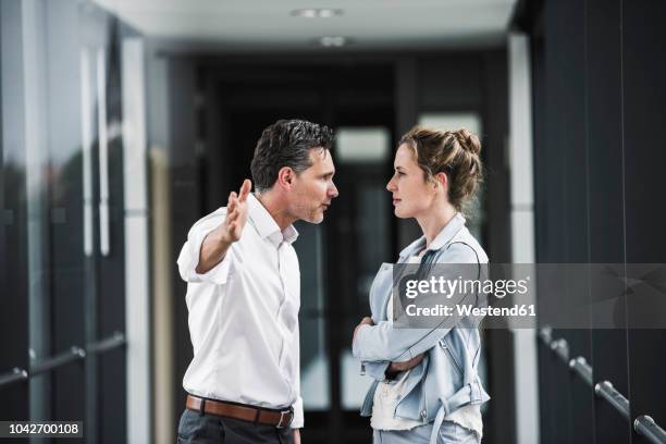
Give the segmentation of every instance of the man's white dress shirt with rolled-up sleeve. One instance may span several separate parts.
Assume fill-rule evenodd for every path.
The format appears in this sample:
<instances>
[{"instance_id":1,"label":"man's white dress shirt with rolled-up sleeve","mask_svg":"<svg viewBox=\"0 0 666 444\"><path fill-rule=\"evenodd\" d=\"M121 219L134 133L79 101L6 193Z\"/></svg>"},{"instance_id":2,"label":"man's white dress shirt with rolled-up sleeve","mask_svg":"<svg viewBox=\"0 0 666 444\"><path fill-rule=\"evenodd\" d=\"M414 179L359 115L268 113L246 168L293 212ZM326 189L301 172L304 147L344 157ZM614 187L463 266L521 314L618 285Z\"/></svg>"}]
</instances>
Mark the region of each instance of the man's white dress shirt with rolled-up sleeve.
<instances>
[{"instance_id":1,"label":"man's white dress shirt with rolled-up sleeve","mask_svg":"<svg viewBox=\"0 0 666 444\"><path fill-rule=\"evenodd\" d=\"M240 239L205 274L195 270L208 233L226 215L220 208L189 230L178 257L187 282L194 359L183 387L193 395L267 408L294 406L301 428L298 309L300 272L292 243L294 226L281 231L263 205L248 195Z\"/></svg>"}]
</instances>

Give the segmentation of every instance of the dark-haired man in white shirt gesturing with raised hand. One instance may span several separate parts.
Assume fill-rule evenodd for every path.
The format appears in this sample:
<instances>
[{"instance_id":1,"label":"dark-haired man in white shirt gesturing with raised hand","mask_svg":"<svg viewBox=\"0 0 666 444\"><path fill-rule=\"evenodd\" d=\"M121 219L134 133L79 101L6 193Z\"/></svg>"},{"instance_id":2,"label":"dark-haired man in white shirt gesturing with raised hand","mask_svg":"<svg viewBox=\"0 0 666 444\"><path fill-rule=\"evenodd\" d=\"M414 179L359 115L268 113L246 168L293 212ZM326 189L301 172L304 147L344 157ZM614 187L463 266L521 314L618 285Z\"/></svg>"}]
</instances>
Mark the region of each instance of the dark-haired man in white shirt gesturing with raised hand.
<instances>
[{"instance_id":1,"label":"dark-haired man in white shirt gesturing with raised hand","mask_svg":"<svg viewBox=\"0 0 666 444\"><path fill-rule=\"evenodd\" d=\"M187 282L194 359L183 379L178 443L299 443L300 274L297 220L320 223L337 196L333 133L311 122L267 127L251 183L187 235L178 270Z\"/></svg>"}]
</instances>

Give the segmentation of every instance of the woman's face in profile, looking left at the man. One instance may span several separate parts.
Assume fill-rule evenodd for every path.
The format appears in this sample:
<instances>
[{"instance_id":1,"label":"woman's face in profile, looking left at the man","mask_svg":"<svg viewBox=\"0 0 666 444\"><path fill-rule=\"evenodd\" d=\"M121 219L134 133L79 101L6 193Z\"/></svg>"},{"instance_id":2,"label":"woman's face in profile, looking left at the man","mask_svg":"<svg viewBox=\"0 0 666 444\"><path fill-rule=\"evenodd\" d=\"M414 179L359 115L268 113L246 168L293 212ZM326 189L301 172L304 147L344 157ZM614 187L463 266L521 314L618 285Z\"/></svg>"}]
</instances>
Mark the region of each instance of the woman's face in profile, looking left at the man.
<instances>
[{"instance_id":1,"label":"woman's face in profile, looking left at the man","mask_svg":"<svg viewBox=\"0 0 666 444\"><path fill-rule=\"evenodd\" d=\"M436 187L425 181L423 170L416 161L414 150L403 144L395 152L394 174L386 184L393 194L393 207L396 217L416 218L427 211L436 195Z\"/></svg>"}]
</instances>

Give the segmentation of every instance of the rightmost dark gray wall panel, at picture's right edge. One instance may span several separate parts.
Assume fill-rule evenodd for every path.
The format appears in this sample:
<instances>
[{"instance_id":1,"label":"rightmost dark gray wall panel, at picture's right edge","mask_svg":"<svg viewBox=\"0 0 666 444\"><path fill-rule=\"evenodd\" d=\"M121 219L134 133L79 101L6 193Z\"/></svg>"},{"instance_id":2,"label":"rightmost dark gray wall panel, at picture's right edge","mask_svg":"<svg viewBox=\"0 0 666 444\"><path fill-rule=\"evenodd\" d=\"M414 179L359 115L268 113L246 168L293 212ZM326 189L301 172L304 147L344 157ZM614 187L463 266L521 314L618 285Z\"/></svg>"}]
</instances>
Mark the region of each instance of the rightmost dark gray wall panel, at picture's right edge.
<instances>
[{"instance_id":1,"label":"rightmost dark gray wall panel, at picture's right edge","mask_svg":"<svg viewBox=\"0 0 666 444\"><path fill-rule=\"evenodd\" d=\"M666 58L663 1L622 2L622 98L627 262L666 262L664 118ZM629 297L630 323L666 313L666 299ZM629 331L629 399L632 416L650 415L666 425L666 331ZM634 434L634 443L646 442Z\"/></svg>"}]
</instances>

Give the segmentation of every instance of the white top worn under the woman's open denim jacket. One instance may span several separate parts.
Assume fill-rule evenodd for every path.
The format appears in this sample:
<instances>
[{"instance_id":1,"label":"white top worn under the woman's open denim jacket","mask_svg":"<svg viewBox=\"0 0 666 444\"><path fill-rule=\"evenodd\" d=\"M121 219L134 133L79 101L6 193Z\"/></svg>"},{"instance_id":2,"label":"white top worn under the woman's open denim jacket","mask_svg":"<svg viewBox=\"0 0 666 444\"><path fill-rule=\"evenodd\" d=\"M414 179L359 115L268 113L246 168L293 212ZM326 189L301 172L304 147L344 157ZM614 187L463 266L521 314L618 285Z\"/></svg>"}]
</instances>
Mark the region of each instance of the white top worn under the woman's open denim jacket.
<instances>
[{"instance_id":1,"label":"white top worn under the woman's open denim jacket","mask_svg":"<svg viewBox=\"0 0 666 444\"><path fill-rule=\"evenodd\" d=\"M419 256L412 256L408 259L408 263L419 263L425 250ZM388 297L386 307L388 319L393 321L393 295ZM400 378L395 381L381 381L377 385L374 398L372 400L372 417L370 425L377 430L409 430L415 427L423 425L423 422L414 419L400 418L395 416L395 410L402 399L402 392L407 381L409 371L400 374ZM479 440L483 437L483 418L481 417L480 405L466 405L459 409L452 411L445 418L445 421L453 421L457 424L473 431Z\"/></svg>"}]
</instances>

